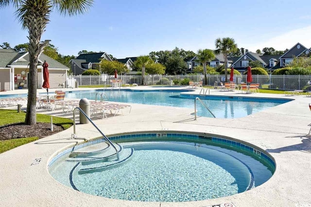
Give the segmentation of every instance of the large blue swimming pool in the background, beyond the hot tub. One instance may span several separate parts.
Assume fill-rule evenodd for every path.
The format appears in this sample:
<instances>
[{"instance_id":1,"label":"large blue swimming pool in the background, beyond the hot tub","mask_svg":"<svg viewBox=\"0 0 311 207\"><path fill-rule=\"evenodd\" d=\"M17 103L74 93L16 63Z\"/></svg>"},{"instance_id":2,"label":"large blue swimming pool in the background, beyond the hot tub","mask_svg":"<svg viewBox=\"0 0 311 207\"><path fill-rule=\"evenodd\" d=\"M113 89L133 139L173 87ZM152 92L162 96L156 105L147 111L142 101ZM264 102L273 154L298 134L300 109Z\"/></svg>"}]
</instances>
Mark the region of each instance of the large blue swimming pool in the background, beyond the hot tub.
<instances>
[{"instance_id":1,"label":"large blue swimming pool in the background, beyond the hot tub","mask_svg":"<svg viewBox=\"0 0 311 207\"><path fill-rule=\"evenodd\" d=\"M66 93L66 97L95 99L96 93L104 93L109 101L193 109L194 99L197 96L180 95L181 92L187 91L188 90L93 90ZM289 101L288 99L229 96L200 96L200 98L217 118L240 118ZM99 96L97 96L97 99L99 99ZM212 117L200 103L197 104L197 111L199 116Z\"/></svg>"}]
</instances>

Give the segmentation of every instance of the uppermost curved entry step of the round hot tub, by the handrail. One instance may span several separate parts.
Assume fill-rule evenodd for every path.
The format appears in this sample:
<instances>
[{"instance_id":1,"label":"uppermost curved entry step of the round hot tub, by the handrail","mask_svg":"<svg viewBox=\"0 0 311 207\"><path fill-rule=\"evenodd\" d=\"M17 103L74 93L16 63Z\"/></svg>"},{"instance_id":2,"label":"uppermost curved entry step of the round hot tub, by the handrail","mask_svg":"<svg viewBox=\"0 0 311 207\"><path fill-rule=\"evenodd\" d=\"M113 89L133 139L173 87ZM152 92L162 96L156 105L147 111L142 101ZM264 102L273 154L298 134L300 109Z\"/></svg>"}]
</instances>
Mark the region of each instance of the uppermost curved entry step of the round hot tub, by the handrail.
<instances>
[{"instance_id":1,"label":"uppermost curved entry step of the round hot tub, by the handrail","mask_svg":"<svg viewBox=\"0 0 311 207\"><path fill-rule=\"evenodd\" d=\"M92 144L77 150L73 150L70 153L69 158L85 158L91 155L98 155L104 152L104 150L108 149L109 146L110 144L105 142Z\"/></svg>"}]
</instances>

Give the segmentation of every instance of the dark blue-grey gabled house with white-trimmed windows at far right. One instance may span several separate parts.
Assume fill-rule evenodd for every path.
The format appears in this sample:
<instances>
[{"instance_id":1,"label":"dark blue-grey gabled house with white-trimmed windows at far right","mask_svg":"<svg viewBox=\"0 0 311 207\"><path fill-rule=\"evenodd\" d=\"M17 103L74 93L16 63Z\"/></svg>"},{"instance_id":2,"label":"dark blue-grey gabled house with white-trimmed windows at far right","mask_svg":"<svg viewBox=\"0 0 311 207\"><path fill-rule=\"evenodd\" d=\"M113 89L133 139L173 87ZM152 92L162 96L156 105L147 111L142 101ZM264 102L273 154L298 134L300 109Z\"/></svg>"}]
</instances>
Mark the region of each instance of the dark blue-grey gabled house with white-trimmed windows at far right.
<instances>
[{"instance_id":1,"label":"dark blue-grey gabled house with white-trimmed windows at far right","mask_svg":"<svg viewBox=\"0 0 311 207\"><path fill-rule=\"evenodd\" d=\"M268 71L274 71L278 68L286 67L287 64L294 60L294 57L310 56L310 52L310 49L304 47L300 43L294 45L293 48L289 49L283 55L259 55L258 53L248 51L232 65L236 70L244 72L249 62L259 61Z\"/></svg>"}]
</instances>

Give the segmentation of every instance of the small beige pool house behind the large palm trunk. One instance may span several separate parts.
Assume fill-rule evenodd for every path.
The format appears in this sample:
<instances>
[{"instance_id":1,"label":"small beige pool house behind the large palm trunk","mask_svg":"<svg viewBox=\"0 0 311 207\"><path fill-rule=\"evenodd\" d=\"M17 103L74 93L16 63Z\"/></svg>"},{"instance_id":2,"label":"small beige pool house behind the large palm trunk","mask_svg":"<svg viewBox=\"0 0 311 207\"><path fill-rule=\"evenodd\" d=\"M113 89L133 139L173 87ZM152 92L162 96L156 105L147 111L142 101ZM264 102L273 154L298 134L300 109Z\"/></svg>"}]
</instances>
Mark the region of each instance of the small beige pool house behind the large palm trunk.
<instances>
[{"instance_id":1,"label":"small beige pool house behind the large palm trunk","mask_svg":"<svg viewBox=\"0 0 311 207\"><path fill-rule=\"evenodd\" d=\"M67 70L69 68L41 53L37 66L37 88L42 88L42 64L44 61L49 64L50 87L61 88L66 86ZM0 49L0 91L15 90L19 87L28 88L28 76L28 52L19 53L13 49Z\"/></svg>"}]
</instances>

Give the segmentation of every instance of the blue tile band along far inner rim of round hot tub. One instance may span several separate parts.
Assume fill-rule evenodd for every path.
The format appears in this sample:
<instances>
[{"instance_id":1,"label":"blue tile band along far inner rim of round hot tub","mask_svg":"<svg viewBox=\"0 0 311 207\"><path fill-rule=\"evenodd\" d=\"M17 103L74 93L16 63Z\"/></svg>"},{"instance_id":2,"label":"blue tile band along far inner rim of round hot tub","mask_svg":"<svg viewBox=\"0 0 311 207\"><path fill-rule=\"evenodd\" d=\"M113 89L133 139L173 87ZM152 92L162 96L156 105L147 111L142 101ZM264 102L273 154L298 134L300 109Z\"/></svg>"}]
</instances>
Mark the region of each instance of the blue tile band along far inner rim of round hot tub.
<instances>
[{"instance_id":1,"label":"blue tile band along far inner rim of round hot tub","mask_svg":"<svg viewBox=\"0 0 311 207\"><path fill-rule=\"evenodd\" d=\"M258 161L264 161L268 163L272 167L272 173L274 174L276 169L276 162L275 159L266 151L263 149L260 149L259 147L246 143L241 140L236 140L229 137L221 137L220 135L217 136L207 136L207 135L200 135L200 134L194 134L192 133L181 133L181 132L144 132L144 133L126 133L126 134L120 134L120 135L111 135L108 136L108 138L111 141L126 141L126 140L138 140L138 139L155 139L155 138L174 138L176 141L182 141L182 139L187 139L191 141L209 141L210 143L215 143L219 145L223 145L226 147L233 147L237 150L242 150L243 152L246 152L249 155L253 155L252 157L254 159L257 159ZM106 142L103 138L94 138L93 140L87 142L87 143L81 143L75 146L67 146L63 149L60 149L59 151L55 152L50 159L48 160L48 168L52 166L52 164L62 156L64 156L67 153L72 152L73 150L80 149L82 147L95 144L95 143L102 143ZM237 151L235 150L235 151Z\"/></svg>"}]
</instances>

